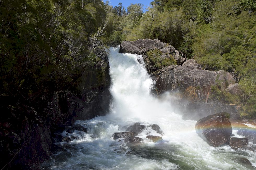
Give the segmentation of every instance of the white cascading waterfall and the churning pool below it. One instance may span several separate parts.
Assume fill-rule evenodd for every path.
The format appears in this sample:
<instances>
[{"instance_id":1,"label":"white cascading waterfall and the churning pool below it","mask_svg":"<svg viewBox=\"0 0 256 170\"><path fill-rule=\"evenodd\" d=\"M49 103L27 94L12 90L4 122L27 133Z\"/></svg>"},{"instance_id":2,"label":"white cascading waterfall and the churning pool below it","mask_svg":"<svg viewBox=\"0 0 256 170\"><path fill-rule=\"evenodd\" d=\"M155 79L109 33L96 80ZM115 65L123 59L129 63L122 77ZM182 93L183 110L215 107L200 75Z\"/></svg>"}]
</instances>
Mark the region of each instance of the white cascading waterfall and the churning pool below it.
<instances>
[{"instance_id":1,"label":"white cascading waterfall and the churning pool below it","mask_svg":"<svg viewBox=\"0 0 256 170\"><path fill-rule=\"evenodd\" d=\"M112 110L107 116L77 121L88 133L64 131L75 136L70 143L60 142L61 149L42 166L45 169L253 169L256 152L233 150L230 146L211 147L195 132L196 121L184 121L175 114L170 101L160 101L150 94L154 85L143 64L142 56L119 54L109 49L113 96ZM161 136L146 128L138 137L143 142L127 144L112 135L123 132L135 122L146 127L158 124L165 142L154 143L147 134ZM167 142L168 141L168 142ZM251 143L249 143L251 144ZM252 165L238 161L248 159Z\"/></svg>"}]
</instances>

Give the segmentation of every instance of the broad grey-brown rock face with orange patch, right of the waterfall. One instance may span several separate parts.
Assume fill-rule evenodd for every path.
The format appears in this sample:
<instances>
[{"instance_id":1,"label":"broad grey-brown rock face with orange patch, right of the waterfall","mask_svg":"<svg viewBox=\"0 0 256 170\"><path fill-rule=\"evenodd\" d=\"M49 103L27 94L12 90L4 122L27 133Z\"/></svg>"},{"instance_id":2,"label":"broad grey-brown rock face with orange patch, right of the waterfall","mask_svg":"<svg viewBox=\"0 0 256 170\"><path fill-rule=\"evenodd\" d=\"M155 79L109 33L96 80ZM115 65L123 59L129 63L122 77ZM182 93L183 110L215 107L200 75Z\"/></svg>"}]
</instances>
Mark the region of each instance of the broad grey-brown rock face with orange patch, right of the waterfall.
<instances>
[{"instance_id":1,"label":"broad grey-brown rock face with orange patch, right of the waterfall","mask_svg":"<svg viewBox=\"0 0 256 170\"><path fill-rule=\"evenodd\" d=\"M205 101L211 86L220 84L221 89L226 89L229 84L235 82L228 72L202 70L194 59L185 61L181 66L172 65L159 69L151 76L156 81L157 94L178 91L182 100L189 101Z\"/></svg>"}]
</instances>

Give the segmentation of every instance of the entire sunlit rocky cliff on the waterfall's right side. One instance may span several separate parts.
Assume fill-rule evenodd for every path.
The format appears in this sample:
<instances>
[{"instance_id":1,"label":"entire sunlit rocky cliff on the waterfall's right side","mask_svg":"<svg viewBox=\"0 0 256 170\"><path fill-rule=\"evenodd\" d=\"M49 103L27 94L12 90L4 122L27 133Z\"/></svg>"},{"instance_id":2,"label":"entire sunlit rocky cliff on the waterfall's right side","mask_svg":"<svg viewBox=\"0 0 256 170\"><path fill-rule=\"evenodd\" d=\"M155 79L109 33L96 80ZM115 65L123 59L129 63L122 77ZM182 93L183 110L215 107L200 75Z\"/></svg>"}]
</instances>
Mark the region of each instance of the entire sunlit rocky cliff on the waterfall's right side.
<instances>
[{"instance_id":1,"label":"entire sunlit rocky cliff on the waterfall's right side","mask_svg":"<svg viewBox=\"0 0 256 170\"><path fill-rule=\"evenodd\" d=\"M177 100L172 102L184 114L183 119L197 121L217 112L236 115L237 105L220 101L213 92L216 88L227 94L239 93L238 84L229 72L204 70L196 60L187 60L182 52L159 40L124 41L119 52L143 56L145 67L156 82L153 93L159 97L166 91L174 95Z\"/></svg>"}]
</instances>

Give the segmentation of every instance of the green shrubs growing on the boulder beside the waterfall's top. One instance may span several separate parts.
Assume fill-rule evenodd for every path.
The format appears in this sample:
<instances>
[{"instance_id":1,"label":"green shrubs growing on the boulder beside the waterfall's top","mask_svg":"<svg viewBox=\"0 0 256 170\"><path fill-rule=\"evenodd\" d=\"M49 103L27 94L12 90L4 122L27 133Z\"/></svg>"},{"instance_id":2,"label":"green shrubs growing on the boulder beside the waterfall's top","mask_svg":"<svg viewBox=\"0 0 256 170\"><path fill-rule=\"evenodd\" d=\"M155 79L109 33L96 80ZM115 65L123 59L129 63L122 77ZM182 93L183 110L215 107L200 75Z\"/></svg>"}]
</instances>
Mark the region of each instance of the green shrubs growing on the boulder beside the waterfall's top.
<instances>
[{"instance_id":1,"label":"green shrubs growing on the boulder beside the waterfall's top","mask_svg":"<svg viewBox=\"0 0 256 170\"><path fill-rule=\"evenodd\" d=\"M177 64L177 61L173 56L166 58L161 57L162 54L163 53L159 49L154 49L147 52L148 59L156 69Z\"/></svg>"}]
</instances>

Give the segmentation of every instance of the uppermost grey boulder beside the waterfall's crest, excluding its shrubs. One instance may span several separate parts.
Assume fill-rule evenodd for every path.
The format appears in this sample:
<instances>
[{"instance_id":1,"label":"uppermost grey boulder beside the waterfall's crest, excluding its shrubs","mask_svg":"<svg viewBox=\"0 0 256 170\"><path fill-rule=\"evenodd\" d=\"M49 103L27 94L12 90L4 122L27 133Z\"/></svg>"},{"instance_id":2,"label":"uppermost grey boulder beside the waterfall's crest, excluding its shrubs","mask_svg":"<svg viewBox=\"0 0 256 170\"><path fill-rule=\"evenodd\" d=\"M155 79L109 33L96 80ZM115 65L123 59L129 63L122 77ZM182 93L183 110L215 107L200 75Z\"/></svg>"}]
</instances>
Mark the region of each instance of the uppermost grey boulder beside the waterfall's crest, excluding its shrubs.
<instances>
[{"instance_id":1,"label":"uppermost grey boulder beside the waterfall's crest, excluding its shrubs","mask_svg":"<svg viewBox=\"0 0 256 170\"><path fill-rule=\"evenodd\" d=\"M178 65L182 65L187 58L180 55L180 52L176 50L173 46L163 43L159 40L150 39L138 39L136 41L123 41L120 45L119 53L131 53L131 54L142 54L143 60L145 62L145 67L149 73L152 73L159 69L155 67L154 63L149 60L147 52L149 50L159 49L163 55L161 55L160 60L168 59L174 57ZM161 68L161 67L160 67Z\"/></svg>"}]
</instances>

